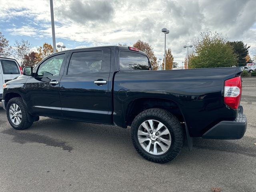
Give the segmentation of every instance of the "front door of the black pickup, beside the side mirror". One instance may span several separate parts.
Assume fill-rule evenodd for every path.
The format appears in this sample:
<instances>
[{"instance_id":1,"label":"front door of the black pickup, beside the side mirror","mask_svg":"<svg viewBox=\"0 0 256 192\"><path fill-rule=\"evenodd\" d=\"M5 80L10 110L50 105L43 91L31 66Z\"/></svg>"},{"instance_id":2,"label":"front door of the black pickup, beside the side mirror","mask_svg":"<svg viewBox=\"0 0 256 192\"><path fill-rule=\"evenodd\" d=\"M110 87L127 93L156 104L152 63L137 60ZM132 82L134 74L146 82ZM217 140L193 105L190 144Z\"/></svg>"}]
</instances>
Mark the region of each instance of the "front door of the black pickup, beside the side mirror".
<instances>
[{"instance_id":1,"label":"front door of the black pickup, beside the side mirror","mask_svg":"<svg viewBox=\"0 0 256 192\"><path fill-rule=\"evenodd\" d=\"M36 69L36 75L26 82L25 101L34 115L62 117L60 103L60 79L68 53L49 56Z\"/></svg>"}]
</instances>

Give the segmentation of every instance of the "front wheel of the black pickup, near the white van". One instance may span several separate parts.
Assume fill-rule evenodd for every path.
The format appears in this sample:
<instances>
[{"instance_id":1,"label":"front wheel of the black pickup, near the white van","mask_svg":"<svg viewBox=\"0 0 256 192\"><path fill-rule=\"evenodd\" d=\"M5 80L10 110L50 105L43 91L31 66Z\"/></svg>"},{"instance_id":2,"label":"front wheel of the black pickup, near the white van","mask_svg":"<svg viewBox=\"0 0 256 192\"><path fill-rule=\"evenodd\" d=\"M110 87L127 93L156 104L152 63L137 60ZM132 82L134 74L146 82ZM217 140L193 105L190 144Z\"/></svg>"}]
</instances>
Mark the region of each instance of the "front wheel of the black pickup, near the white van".
<instances>
[{"instance_id":1,"label":"front wheel of the black pickup, near the white van","mask_svg":"<svg viewBox=\"0 0 256 192\"><path fill-rule=\"evenodd\" d=\"M14 129L24 130L33 124L32 122L28 121L26 108L21 97L15 97L8 101L6 114L10 125Z\"/></svg>"}]
</instances>

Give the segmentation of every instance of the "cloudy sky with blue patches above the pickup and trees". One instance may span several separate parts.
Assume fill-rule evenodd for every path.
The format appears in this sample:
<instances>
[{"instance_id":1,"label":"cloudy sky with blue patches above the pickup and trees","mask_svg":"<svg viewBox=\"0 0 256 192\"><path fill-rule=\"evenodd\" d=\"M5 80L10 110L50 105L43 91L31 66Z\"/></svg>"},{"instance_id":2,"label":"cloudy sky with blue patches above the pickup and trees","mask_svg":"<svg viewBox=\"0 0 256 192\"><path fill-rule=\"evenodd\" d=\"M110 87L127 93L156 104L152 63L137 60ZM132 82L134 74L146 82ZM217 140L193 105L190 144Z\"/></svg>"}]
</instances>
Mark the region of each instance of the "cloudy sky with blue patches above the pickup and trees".
<instances>
[{"instance_id":1,"label":"cloudy sky with blue patches above the pickup and trees","mask_svg":"<svg viewBox=\"0 0 256 192\"><path fill-rule=\"evenodd\" d=\"M222 33L242 40L256 55L255 0L53 0L57 44L132 45L149 42L158 58L164 54L162 28L170 30L166 48L181 64L186 44L200 32ZM0 31L10 41L28 40L35 49L52 44L49 0L0 0Z\"/></svg>"}]
</instances>

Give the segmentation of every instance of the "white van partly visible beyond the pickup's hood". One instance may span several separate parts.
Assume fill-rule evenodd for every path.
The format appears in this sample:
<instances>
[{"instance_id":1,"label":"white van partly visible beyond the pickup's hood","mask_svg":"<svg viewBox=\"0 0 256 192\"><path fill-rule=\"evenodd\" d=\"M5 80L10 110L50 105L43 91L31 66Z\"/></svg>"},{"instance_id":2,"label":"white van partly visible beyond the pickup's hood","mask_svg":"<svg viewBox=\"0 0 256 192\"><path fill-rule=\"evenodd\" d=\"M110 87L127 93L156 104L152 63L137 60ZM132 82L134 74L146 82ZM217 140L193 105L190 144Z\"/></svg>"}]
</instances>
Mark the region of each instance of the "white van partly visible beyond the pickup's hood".
<instances>
[{"instance_id":1,"label":"white van partly visible beyond the pickup's hood","mask_svg":"<svg viewBox=\"0 0 256 192\"><path fill-rule=\"evenodd\" d=\"M22 73L22 68L15 59L0 57L0 101L3 96L3 84Z\"/></svg>"}]
</instances>

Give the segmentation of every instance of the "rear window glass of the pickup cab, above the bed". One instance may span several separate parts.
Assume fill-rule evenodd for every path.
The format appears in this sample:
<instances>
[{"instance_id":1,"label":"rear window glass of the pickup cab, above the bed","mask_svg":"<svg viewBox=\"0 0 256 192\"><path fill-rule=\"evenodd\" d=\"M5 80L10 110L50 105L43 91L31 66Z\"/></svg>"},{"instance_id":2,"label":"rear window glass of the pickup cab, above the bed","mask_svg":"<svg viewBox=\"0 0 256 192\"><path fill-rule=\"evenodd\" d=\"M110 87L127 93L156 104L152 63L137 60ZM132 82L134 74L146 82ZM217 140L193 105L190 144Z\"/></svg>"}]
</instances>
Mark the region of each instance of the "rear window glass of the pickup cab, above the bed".
<instances>
[{"instance_id":1,"label":"rear window glass of the pickup cab, above the bed","mask_svg":"<svg viewBox=\"0 0 256 192\"><path fill-rule=\"evenodd\" d=\"M120 70L150 70L148 58L145 55L130 52L120 51L119 58Z\"/></svg>"}]
</instances>

